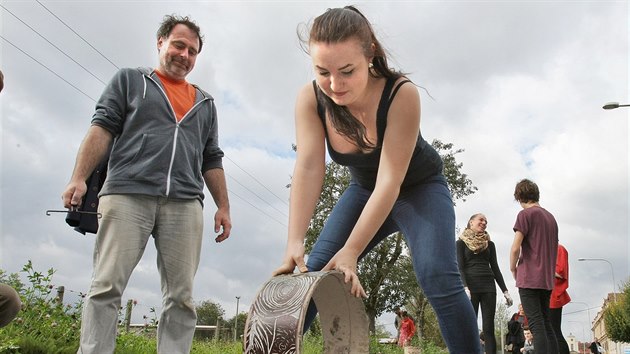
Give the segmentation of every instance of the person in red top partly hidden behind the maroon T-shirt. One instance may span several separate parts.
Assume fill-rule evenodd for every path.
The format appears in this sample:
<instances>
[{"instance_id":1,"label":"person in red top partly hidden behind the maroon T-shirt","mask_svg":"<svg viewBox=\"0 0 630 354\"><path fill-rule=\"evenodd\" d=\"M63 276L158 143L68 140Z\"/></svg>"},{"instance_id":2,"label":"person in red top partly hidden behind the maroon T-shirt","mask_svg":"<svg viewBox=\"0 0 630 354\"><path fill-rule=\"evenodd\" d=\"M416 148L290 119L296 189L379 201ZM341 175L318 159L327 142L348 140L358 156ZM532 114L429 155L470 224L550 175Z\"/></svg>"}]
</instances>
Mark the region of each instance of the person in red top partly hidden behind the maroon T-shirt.
<instances>
[{"instance_id":1,"label":"person in red top partly hidden behind the maroon T-shirt","mask_svg":"<svg viewBox=\"0 0 630 354\"><path fill-rule=\"evenodd\" d=\"M556 257L556 272L549 299L549 311L551 315L551 327L556 333L558 350L560 354L569 354L569 345L562 335L562 307L571 301L567 289L569 288L569 253L562 245L558 245Z\"/></svg>"}]
</instances>

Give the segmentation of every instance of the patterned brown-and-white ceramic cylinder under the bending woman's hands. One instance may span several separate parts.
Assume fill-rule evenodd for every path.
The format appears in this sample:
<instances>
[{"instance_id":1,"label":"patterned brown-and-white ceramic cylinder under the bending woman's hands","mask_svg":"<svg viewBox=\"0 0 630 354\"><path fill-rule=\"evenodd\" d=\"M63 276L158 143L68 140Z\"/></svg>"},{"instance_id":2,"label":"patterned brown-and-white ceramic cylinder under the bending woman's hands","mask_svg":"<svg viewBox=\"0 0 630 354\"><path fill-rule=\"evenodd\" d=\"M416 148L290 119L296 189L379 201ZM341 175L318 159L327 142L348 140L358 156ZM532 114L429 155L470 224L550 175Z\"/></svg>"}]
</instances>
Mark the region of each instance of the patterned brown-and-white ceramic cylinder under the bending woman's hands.
<instances>
[{"instance_id":1,"label":"patterned brown-and-white ceramic cylinder under the bending woman's hands","mask_svg":"<svg viewBox=\"0 0 630 354\"><path fill-rule=\"evenodd\" d=\"M245 354L299 354L310 300L319 309L324 353L368 353L363 301L350 294L343 274L310 272L272 277L250 307Z\"/></svg>"}]
</instances>

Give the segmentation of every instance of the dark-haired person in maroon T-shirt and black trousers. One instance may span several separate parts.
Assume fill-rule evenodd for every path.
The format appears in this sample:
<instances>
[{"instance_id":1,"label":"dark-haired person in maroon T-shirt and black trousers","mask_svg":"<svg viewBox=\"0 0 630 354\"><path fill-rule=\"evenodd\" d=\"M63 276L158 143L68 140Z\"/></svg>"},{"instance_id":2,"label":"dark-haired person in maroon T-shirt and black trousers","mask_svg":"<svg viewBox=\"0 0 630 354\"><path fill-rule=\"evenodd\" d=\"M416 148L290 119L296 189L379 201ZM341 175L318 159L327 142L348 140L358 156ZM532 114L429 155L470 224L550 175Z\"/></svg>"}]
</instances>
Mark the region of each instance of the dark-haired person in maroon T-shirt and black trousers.
<instances>
[{"instance_id":1,"label":"dark-haired person in maroon T-shirt and black trousers","mask_svg":"<svg viewBox=\"0 0 630 354\"><path fill-rule=\"evenodd\" d=\"M540 206L539 198L536 183L523 179L516 184L514 199L523 210L514 223L510 271L534 335L536 353L555 354L558 343L551 325L549 299L558 254L558 223Z\"/></svg>"}]
</instances>

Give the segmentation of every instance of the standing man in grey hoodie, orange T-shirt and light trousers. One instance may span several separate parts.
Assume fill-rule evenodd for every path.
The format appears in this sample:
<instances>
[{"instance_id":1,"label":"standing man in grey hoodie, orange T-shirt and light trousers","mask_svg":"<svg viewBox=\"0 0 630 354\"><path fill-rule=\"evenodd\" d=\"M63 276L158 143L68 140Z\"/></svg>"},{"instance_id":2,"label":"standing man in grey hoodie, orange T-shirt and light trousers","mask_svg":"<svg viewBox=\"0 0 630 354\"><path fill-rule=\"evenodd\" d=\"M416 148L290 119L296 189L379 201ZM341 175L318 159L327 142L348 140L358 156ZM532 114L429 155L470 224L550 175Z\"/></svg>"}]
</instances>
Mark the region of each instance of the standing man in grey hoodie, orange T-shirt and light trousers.
<instances>
[{"instance_id":1,"label":"standing man in grey hoodie, orange T-shirt and light trousers","mask_svg":"<svg viewBox=\"0 0 630 354\"><path fill-rule=\"evenodd\" d=\"M202 45L188 17L165 16L157 32L158 67L121 69L96 105L62 195L64 207L79 207L85 181L109 154L79 353L114 352L122 293L150 236L163 298L158 353L190 352L204 182L217 206L216 242L232 228L214 100L185 80Z\"/></svg>"}]
</instances>

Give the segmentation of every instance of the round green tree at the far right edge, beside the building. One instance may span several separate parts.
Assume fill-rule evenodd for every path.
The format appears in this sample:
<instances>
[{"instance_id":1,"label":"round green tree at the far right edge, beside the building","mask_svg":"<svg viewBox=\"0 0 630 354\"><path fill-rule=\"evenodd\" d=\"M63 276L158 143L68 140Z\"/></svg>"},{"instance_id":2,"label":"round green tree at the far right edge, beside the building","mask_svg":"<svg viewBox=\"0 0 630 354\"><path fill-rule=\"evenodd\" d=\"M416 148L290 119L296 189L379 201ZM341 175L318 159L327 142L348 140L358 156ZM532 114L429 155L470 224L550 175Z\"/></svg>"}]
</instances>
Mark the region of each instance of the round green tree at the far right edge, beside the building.
<instances>
[{"instance_id":1,"label":"round green tree at the far right edge, beside the building","mask_svg":"<svg viewBox=\"0 0 630 354\"><path fill-rule=\"evenodd\" d=\"M604 309L606 334L615 342L630 342L630 281L624 285L617 301Z\"/></svg>"}]
</instances>

